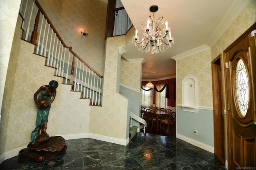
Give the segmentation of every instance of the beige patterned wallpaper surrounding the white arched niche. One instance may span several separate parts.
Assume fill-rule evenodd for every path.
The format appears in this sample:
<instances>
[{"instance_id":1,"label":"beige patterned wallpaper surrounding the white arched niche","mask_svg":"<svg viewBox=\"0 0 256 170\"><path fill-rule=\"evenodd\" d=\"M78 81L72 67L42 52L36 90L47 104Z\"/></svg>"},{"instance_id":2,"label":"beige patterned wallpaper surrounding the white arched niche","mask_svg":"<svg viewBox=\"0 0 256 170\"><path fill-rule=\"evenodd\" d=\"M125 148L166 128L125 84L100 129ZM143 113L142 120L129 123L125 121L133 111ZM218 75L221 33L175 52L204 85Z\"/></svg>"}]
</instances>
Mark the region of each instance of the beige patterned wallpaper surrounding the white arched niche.
<instances>
[{"instance_id":1,"label":"beige patterned wallpaper surrounding the white arched niche","mask_svg":"<svg viewBox=\"0 0 256 170\"><path fill-rule=\"evenodd\" d=\"M198 106L212 106L211 50L176 61L177 104L182 104L182 81L194 76L198 81Z\"/></svg>"}]
</instances>

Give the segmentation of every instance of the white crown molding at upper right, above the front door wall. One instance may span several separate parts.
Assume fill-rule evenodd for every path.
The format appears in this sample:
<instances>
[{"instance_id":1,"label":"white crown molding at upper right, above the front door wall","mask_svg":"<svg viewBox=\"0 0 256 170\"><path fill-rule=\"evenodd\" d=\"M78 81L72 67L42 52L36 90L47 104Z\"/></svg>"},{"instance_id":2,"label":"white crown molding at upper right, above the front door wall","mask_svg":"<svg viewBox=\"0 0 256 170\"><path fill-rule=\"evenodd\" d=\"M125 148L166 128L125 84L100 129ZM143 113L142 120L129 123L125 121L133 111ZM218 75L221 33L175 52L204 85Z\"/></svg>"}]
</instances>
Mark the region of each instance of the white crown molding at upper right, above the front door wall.
<instances>
[{"instance_id":1,"label":"white crown molding at upper right, above the front door wall","mask_svg":"<svg viewBox=\"0 0 256 170\"><path fill-rule=\"evenodd\" d=\"M248 6L251 0L235 0L222 21L220 21L218 27L207 41L207 45L212 48L222 35L228 30L230 25L234 23L236 18L243 12L244 8Z\"/></svg>"}]
</instances>

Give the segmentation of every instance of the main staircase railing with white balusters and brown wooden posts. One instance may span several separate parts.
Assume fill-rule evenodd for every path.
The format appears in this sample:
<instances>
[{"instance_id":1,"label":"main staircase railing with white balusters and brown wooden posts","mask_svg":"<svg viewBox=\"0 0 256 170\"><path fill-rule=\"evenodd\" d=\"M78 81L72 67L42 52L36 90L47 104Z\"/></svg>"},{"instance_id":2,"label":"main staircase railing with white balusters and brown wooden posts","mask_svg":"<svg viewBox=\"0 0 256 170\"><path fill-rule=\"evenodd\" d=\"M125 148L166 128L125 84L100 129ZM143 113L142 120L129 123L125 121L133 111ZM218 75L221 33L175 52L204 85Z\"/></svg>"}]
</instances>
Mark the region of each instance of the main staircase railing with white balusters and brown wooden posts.
<instances>
[{"instance_id":1,"label":"main staircase railing with white balusters and brown wooden posts","mask_svg":"<svg viewBox=\"0 0 256 170\"><path fill-rule=\"evenodd\" d=\"M19 13L22 39L35 45L34 54L46 57L45 65L56 68L54 75L82 92L81 98L90 98L90 105L101 106L103 76L64 43L38 0L22 0Z\"/></svg>"}]
</instances>

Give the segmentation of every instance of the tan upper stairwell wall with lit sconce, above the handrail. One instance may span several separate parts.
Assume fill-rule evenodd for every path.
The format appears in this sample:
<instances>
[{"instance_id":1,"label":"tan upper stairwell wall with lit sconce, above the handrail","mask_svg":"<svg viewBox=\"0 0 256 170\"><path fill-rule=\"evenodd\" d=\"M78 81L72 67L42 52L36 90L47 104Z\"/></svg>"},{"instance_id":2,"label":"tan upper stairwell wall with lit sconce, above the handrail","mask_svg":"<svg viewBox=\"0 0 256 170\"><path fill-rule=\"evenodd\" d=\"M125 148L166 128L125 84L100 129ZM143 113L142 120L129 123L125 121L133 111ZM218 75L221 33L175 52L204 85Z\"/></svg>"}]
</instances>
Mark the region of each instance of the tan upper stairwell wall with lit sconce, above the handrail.
<instances>
[{"instance_id":1,"label":"tan upper stairwell wall with lit sconce, above the handrail","mask_svg":"<svg viewBox=\"0 0 256 170\"><path fill-rule=\"evenodd\" d=\"M40 0L39 3L66 45L103 75L107 0ZM80 35L81 29L88 31L88 37Z\"/></svg>"}]
</instances>

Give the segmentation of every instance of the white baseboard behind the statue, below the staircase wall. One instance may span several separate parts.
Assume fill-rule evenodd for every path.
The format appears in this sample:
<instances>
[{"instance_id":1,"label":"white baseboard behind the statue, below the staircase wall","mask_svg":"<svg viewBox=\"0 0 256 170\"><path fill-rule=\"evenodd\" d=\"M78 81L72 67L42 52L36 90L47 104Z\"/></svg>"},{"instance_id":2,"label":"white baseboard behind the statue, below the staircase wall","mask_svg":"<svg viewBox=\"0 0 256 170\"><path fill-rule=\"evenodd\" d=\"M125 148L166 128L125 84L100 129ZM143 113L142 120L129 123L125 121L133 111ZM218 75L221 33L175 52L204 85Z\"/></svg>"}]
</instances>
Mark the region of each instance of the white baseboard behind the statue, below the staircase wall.
<instances>
[{"instance_id":1,"label":"white baseboard behind the statue, below the staircase wall","mask_svg":"<svg viewBox=\"0 0 256 170\"><path fill-rule=\"evenodd\" d=\"M108 137L108 136L103 136L103 135L97 135L93 133L78 133L78 134L70 134L70 135L58 135L63 137L65 140L70 140L70 139L82 139L82 138L91 138L91 139L97 139L100 141L105 141L105 142L110 142L110 143L115 143L118 145L128 145L130 142L129 137L124 140L124 139L118 139L118 138L113 138L113 137ZM2 155L0 155L0 164L4 162L4 160L12 158L14 156L18 156L20 150L27 148L26 146L19 147L17 149L13 149L7 152L4 152Z\"/></svg>"}]
</instances>

